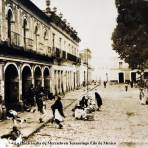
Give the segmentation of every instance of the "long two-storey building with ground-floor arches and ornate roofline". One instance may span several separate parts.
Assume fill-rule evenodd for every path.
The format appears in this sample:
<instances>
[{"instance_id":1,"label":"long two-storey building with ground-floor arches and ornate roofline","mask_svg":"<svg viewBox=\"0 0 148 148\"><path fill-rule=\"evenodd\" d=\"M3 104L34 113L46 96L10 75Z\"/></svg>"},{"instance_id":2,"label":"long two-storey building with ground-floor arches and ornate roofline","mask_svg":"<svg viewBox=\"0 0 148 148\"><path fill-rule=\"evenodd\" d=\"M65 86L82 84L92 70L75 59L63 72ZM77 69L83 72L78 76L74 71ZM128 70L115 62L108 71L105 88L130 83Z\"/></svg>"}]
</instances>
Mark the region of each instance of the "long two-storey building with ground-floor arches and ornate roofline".
<instances>
[{"instance_id":1,"label":"long two-storey building with ground-floor arches and ornate roofline","mask_svg":"<svg viewBox=\"0 0 148 148\"><path fill-rule=\"evenodd\" d=\"M0 0L0 95L14 107L33 84L59 94L80 85L80 39L56 14L30 0Z\"/></svg>"}]
</instances>

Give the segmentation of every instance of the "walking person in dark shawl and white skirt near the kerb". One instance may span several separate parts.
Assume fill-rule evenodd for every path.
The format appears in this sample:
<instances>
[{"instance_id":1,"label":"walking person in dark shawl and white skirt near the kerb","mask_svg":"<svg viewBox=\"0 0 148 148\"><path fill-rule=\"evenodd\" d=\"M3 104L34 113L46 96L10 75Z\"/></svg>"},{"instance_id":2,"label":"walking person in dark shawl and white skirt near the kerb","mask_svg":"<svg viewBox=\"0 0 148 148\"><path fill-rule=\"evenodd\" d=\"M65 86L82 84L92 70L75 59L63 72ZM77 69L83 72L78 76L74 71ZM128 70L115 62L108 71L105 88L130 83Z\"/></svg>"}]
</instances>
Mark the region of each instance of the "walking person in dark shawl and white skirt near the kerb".
<instances>
[{"instance_id":1,"label":"walking person in dark shawl and white skirt near the kerb","mask_svg":"<svg viewBox=\"0 0 148 148\"><path fill-rule=\"evenodd\" d=\"M63 122L63 118L65 118L64 112L63 112L63 104L61 102L61 97L57 96L56 101L51 106L52 112L53 112L53 118L55 123L59 126L61 129L63 125L61 122Z\"/></svg>"}]
</instances>

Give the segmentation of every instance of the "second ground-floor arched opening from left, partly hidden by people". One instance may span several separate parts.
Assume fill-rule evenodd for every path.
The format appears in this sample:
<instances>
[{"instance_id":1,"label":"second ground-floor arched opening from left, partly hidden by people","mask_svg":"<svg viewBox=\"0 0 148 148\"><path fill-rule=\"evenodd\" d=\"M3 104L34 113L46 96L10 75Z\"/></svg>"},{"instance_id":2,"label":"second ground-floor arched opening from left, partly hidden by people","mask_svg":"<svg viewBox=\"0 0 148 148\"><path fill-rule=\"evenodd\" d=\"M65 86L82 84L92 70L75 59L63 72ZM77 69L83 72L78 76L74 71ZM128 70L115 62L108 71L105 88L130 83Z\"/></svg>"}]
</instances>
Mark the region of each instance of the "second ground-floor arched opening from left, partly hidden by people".
<instances>
[{"instance_id":1,"label":"second ground-floor arched opening from left, partly hidden by people","mask_svg":"<svg viewBox=\"0 0 148 148\"><path fill-rule=\"evenodd\" d=\"M31 69L28 66L25 66L22 71L22 98L28 99L27 91L32 84L32 75Z\"/></svg>"}]
</instances>

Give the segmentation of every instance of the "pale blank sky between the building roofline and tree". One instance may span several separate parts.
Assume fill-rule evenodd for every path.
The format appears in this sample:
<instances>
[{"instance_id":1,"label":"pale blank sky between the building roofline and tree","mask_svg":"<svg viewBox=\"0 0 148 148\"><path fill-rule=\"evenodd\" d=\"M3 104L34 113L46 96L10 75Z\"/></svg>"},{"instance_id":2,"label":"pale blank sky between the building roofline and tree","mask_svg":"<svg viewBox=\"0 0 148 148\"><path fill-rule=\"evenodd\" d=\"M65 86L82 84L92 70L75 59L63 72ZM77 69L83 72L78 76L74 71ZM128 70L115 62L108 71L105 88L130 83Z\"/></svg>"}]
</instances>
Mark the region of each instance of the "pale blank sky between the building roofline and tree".
<instances>
[{"instance_id":1,"label":"pale blank sky between the building roofline and tree","mask_svg":"<svg viewBox=\"0 0 148 148\"><path fill-rule=\"evenodd\" d=\"M32 0L45 9L46 0ZM115 0L51 0L51 8L78 32L81 39L79 50L92 51L92 64L98 65L117 54L112 50L111 35L116 26Z\"/></svg>"}]
</instances>

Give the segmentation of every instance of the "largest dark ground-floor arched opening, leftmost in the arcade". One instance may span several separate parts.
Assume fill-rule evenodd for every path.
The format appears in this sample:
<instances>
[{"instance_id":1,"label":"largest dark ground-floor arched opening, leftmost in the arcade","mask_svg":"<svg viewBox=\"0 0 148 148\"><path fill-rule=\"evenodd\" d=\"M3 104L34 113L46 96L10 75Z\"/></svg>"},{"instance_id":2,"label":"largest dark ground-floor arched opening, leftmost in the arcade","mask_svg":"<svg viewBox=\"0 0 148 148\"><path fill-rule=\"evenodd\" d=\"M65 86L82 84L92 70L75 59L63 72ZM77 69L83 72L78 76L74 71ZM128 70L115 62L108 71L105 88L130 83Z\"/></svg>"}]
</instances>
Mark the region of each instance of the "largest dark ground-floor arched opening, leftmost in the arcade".
<instances>
[{"instance_id":1,"label":"largest dark ground-floor arched opening, leftmost in the arcade","mask_svg":"<svg viewBox=\"0 0 148 148\"><path fill-rule=\"evenodd\" d=\"M19 78L14 65L9 65L5 71L5 106L7 110L16 109L19 101Z\"/></svg>"}]
</instances>

